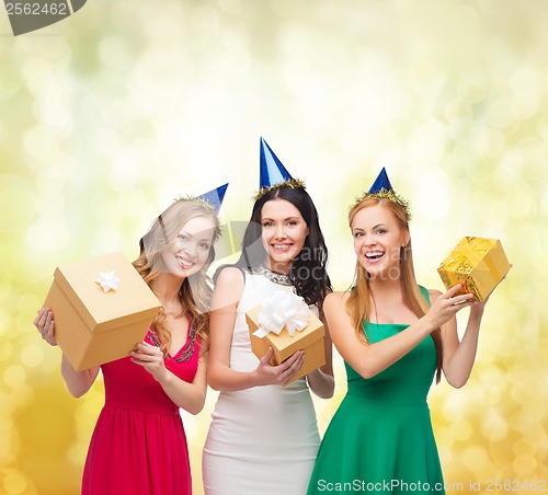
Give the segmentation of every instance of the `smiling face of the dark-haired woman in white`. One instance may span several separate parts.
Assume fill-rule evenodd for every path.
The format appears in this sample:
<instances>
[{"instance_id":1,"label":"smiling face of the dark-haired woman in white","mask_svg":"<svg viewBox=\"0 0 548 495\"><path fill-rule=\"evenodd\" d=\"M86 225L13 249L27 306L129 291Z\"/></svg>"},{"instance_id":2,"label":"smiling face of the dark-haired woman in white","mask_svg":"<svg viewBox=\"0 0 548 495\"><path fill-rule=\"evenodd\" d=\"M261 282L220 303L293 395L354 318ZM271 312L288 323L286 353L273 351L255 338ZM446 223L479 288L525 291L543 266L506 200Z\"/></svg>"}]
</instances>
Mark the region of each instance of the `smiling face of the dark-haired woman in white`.
<instances>
[{"instance_id":1,"label":"smiling face of the dark-haired woman in white","mask_svg":"<svg viewBox=\"0 0 548 495\"><path fill-rule=\"evenodd\" d=\"M275 272L288 273L308 235L300 211L286 199L272 199L263 205L261 226L266 265Z\"/></svg>"}]
</instances>

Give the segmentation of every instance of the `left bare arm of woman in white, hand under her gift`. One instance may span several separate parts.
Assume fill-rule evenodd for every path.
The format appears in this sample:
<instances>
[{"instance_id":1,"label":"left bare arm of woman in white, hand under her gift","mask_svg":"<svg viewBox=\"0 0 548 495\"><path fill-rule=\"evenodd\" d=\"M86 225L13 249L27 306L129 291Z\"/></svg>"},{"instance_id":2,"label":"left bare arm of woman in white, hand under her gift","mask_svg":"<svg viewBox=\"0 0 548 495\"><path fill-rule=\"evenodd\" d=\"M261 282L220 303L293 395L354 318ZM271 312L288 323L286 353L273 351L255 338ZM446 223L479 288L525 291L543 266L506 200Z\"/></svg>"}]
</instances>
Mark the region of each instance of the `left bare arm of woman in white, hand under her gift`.
<instances>
[{"instance_id":1,"label":"left bare arm of woman in white, hand under her gift","mask_svg":"<svg viewBox=\"0 0 548 495\"><path fill-rule=\"evenodd\" d=\"M258 385L284 384L302 366L302 352L298 350L279 366L271 366L269 349L255 370L236 371L230 368L230 347L237 308L243 293L243 277L238 268L225 268L218 276L212 298L209 315L209 385L219 391L236 391Z\"/></svg>"}]
</instances>

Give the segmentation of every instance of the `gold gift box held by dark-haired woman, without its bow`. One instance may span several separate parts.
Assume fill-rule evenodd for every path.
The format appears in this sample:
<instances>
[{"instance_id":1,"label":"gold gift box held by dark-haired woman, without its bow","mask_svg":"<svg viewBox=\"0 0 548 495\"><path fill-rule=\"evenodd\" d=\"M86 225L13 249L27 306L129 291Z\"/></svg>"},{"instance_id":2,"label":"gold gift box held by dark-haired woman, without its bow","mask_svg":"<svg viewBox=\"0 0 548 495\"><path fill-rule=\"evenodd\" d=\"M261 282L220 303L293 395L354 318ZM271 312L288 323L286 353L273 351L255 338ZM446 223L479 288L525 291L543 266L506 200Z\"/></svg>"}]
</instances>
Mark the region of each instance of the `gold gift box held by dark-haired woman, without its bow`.
<instances>
[{"instance_id":1,"label":"gold gift box held by dark-haired woman, without its bow","mask_svg":"<svg viewBox=\"0 0 548 495\"><path fill-rule=\"evenodd\" d=\"M271 359L271 365L273 366L281 365L297 350L305 350L305 362L288 383L293 383L298 378L308 375L326 364L326 348L323 344L326 330L323 323L311 311L309 311L310 320L308 321L308 325L300 332L296 331L293 337L284 326L279 335L271 332L261 338L253 335L253 332L261 326L259 324L260 310L261 304L250 309L246 313L251 349L259 359L267 353L269 347L272 347L274 350Z\"/></svg>"}]
</instances>

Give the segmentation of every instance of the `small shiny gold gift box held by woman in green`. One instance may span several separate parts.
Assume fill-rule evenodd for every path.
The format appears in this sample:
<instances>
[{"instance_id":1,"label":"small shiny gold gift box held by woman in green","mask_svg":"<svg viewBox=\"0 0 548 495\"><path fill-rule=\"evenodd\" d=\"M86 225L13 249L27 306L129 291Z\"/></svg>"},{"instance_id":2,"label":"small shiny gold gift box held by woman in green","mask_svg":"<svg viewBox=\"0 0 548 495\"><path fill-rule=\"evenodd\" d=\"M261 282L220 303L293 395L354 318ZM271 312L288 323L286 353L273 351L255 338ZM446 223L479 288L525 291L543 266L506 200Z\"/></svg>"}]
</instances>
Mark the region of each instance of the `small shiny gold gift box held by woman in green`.
<instances>
[{"instance_id":1,"label":"small shiny gold gift box held by woman in green","mask_svg":"<svg viewBox=\"0 0 548 495\"><path fill-rule=\"evenodd\" d=\"M476 300L481 301L511 266L499 240L465 237L442 262L437 273L447 289L461 284L459 293L471 292Z\"/></svg>"}]
</instances>

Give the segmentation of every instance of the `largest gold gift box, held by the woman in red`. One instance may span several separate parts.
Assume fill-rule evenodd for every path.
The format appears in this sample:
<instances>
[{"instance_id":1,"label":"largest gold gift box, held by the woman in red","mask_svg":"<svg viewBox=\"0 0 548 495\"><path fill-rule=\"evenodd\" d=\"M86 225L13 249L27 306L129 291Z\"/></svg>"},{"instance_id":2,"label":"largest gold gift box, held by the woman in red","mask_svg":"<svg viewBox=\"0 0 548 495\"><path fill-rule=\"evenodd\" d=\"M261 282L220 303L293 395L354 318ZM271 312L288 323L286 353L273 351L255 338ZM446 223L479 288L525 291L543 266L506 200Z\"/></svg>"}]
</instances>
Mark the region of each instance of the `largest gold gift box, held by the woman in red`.
<instances>
[{"instance_id":1,"label":"largest gold gift box, held by the woman in red","mask_svg":"<svg viewBox=\"0 0 548 495\"><path fill-rule=\"evenodd\" d=\"M95 279L114 272L117 290ZM45 307L54 313L55 338L77 371L128 356L142 341L161 304L122 253L56 268Z\"/></svg>"}]
</instances>

